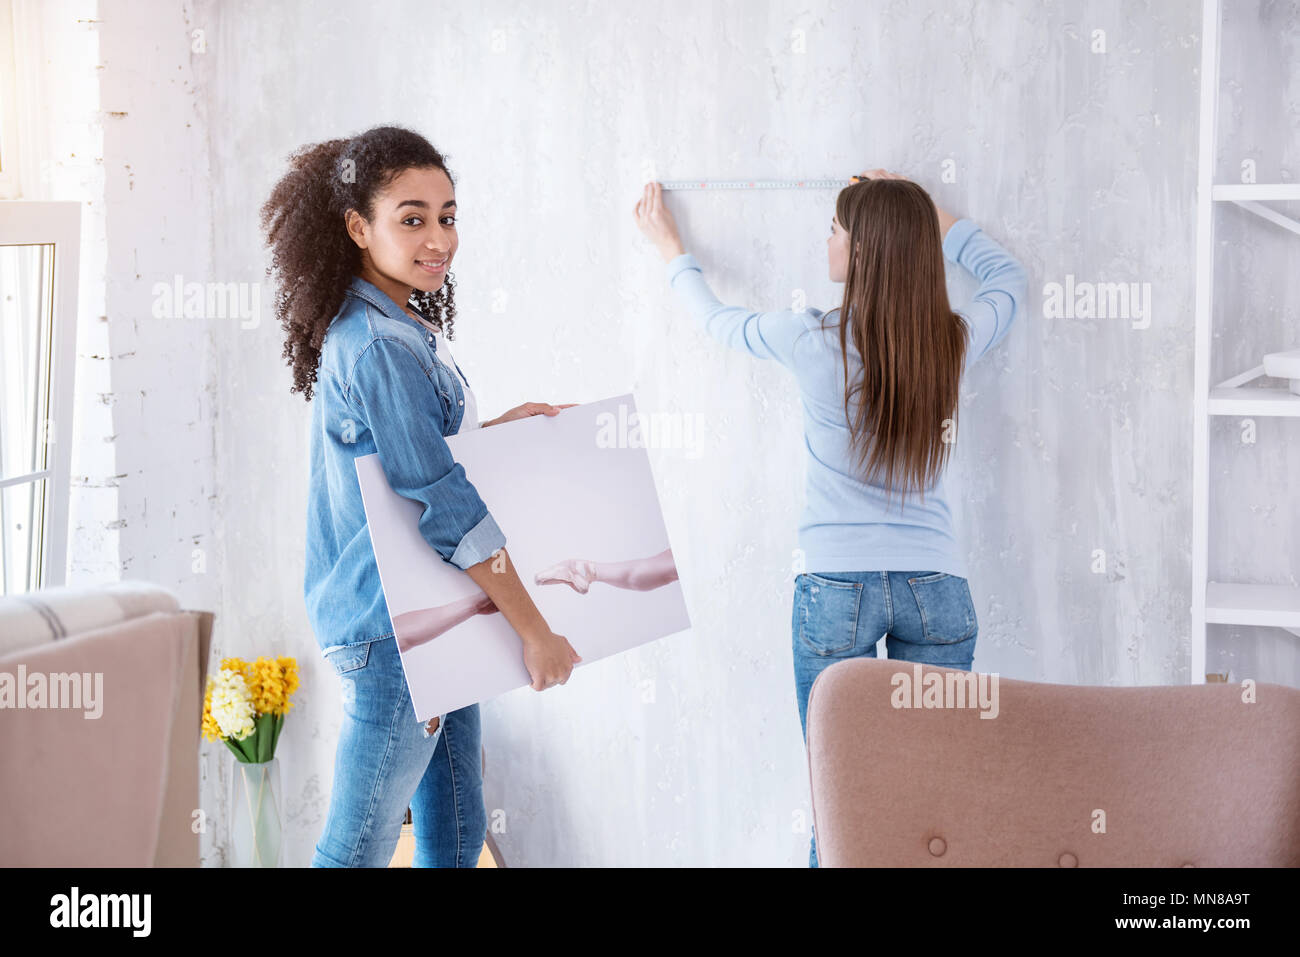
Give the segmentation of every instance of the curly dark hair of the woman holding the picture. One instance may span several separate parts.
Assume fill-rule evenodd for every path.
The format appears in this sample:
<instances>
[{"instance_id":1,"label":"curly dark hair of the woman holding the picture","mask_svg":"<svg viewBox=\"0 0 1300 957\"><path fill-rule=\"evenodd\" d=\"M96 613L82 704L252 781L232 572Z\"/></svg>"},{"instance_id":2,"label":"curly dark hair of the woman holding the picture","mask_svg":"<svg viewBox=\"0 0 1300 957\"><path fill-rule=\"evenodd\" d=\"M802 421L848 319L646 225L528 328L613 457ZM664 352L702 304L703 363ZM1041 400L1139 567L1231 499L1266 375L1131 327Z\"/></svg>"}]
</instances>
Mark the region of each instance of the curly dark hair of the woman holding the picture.
<instances>
[{"instance_id":1,"label":"curly dark hair of the woman holding the picture","mask_svg":"<svg viewBox=\"0 0 1300 957\"><path fill-rule=\"evenodd\" d=\"M407 169L430 168L441 169L455 186L442 153L419 133L400 126L376 126L351 139L313 143L290 153L289 172L261 207L261 229L270 247L266 276L276 282L283 358L294 369L290 393L304 393L312 400L325 330L361 268L361 250L347 234L344 215L356 209L369 220L376 194L394 178ZM410 306L454 338L452 273L433 293L415 290Z\"/></svg>"}]
</instances>

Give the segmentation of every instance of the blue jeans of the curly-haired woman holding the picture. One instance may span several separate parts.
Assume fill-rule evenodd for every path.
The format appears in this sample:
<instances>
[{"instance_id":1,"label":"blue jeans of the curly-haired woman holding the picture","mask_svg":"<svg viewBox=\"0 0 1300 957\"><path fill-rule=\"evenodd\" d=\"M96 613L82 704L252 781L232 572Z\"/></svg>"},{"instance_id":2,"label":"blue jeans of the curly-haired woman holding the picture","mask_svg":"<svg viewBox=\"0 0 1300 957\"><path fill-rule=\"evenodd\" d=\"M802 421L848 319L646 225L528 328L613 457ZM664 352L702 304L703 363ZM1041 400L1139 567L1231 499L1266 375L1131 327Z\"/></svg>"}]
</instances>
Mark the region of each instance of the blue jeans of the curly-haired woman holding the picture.
<instances>
[{"instance_id":1,"label":"blue jeans of the curly-haired woman holding the picture","mask_svg":"<svg viewBox=\"0 0 1300 957\"><path fill-rule=\"evenodd\" d=\"M411 807L413 867L474 867L488 835L478 705L415 716L396 640L325 650L343 683L329 817L312 867L386 867Z\"/></svg>"}]
</instances>

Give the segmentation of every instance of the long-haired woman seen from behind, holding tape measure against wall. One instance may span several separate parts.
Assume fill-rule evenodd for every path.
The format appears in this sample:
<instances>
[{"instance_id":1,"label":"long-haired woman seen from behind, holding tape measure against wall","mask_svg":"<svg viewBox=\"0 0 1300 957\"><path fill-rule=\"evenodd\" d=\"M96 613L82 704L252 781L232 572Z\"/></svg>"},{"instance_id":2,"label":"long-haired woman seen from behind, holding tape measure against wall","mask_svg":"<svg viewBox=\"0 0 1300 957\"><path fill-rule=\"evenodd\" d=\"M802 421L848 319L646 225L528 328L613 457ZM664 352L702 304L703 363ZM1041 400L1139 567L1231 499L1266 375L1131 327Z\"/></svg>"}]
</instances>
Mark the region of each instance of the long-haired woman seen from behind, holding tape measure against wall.
<instances>
[{"instance_id":1,"label":"long-haired woman seen from behind, holding tape measure against wall","mask_svg":"<svg viewBox=\"0 0 1300 957\"><path fill-rule=\"evenodd\" d=\"M916 183L875 169L836 199L827 259L840 307L754 312L708 289L658 183L634 216L701 325L777 360L800 387L807 503L790 631L805 740L812 681L837 661L874 658L881 637L889 658L968 671L979 623L944 476L962 373L1023 309L1024 268ZM945 257L980 282L962 312L948 302Z\"/></svg>"}]
</instances>

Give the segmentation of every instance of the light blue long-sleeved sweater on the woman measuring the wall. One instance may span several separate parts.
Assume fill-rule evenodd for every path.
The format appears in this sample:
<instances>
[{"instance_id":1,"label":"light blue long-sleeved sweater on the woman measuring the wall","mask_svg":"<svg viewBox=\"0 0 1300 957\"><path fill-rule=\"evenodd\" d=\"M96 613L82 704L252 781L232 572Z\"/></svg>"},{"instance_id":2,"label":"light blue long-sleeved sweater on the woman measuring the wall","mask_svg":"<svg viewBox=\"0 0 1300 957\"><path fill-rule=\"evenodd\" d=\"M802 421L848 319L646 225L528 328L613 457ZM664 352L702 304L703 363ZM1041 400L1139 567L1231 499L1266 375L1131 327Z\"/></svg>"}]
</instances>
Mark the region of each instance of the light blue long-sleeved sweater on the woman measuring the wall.
<instances>
[{"instance_id":1,"label":"light blue long-sleeved sweater on the woman measuring the wall","mask_svg":"<svg viewBox=\"0 0 1300 957\"><path fill-rule=\"evenodd\" d=\"M1006 334L1024 308L1024 268L971 220L958 220L944 237L944 256L978 280L974 299L959 312L971 328L966 368ZM699 263L685 252L667 264L668 282L705 330L722 343L789 369L803 404L807 502L798 542L803 571L930 571L966 575L965 550L953 533L946 473L920 503L898 492L887 510L881 486L868 485L849 445L844 415L844 365L838 309L823 313L751 312L724 306L710 290ZM861 356L849 342L850 368Z\"/></svg>"}]
</instances>

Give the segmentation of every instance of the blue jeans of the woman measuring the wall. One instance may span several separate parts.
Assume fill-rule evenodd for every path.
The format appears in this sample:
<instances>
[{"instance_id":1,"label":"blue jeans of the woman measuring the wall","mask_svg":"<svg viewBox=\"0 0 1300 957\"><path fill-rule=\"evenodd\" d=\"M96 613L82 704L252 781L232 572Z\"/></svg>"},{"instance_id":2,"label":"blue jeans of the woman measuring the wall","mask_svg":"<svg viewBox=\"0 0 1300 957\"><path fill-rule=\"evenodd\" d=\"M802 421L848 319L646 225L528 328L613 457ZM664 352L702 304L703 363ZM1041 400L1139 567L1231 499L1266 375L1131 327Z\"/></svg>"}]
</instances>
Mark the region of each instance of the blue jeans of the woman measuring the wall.
<instances>
[{"instance_id":1,"label":"blue jeans of the woman measuring the wall","mask_svg":"<svg viewBox=\"0 0 1300 957\"><path fill-rule=\"evenodd\" d=\"M812 681L845 658L890 659L970 671L979 623L966 579L945 572L805 572L790 614L794 692L807 742ZM816 835L809 867L816 867Z\"/></svg>"}]
</instances>

